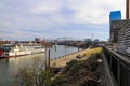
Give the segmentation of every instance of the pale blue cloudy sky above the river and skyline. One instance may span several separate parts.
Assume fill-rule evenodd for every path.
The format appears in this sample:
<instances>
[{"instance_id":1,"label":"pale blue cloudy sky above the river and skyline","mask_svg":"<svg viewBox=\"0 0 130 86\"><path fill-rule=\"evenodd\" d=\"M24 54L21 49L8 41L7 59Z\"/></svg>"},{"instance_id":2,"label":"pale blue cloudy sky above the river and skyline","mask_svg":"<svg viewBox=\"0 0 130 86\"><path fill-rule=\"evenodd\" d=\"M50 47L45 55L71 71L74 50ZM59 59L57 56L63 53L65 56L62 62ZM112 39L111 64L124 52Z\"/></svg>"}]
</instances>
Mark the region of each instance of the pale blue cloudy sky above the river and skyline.
<instances>
[{"instance_id":1,"label":"pale blue cloudy sky above the river and skyline","mask_svg":"<svg viewBox=\"0 0 130 86\"><path fill-rule=\"evenodd\" d=\"M0 0L0 39L109 38L109 13L125 0Z\"/></svg>"}]
</instances>

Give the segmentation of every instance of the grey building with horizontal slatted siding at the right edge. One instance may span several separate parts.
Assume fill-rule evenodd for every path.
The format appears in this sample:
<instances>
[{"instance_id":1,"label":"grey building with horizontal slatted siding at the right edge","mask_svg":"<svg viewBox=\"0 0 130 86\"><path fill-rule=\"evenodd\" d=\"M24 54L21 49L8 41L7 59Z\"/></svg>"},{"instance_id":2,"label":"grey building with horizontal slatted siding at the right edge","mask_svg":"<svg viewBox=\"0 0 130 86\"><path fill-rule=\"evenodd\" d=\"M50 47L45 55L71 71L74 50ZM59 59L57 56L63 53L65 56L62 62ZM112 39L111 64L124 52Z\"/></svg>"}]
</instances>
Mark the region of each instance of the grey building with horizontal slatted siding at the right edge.
<instances>
[{"instance_id":1,"label":"grey building with horizontal slatted siding at the right edge","mask_svg":"<svg viewBox=\"0 0 130 86\"><path fill-rule=\"evenodd\" d=\"M119 53L130 56L130 19L121 20L120 31L118 33L118 46Z\"/></svg>"}]
</instances>

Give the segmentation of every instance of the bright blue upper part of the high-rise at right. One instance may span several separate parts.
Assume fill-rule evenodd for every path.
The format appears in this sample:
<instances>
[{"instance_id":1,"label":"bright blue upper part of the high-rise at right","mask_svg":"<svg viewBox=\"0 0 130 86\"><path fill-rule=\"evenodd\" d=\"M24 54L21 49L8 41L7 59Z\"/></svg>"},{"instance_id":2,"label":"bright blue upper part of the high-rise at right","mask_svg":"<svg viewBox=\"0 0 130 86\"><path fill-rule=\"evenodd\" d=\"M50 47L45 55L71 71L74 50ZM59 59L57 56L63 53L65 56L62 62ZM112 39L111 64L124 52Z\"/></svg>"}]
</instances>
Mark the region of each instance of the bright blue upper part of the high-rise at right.
<instances>
[{"instance_id":1,"label":"bright blue upper part of the high-rise at right","mask_svg":"<svg viewBox=\"0 0 130 86\"><path fill-rule=\"evenodd\" d=\"M112 11L109 15L109 20L121 20L121 11Z\"/></svg>"}]
</instances>

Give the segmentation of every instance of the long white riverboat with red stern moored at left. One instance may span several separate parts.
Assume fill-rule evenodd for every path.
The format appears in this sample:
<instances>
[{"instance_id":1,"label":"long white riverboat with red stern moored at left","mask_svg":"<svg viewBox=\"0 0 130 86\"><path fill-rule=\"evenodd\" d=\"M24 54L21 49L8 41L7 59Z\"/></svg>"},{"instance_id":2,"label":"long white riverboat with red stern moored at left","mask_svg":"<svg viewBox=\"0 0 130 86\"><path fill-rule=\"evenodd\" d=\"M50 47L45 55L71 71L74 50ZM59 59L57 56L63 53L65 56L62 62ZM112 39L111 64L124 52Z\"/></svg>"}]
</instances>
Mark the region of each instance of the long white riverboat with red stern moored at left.
<instances>
[{"instance_id":1,"label":"long white riverboat with red stern moored at left","mask_svg":"<svg viewBox=\"0 0 130 86\"><path fill-rule=\"evenodd\" d=\"M0 48L0 57L10 58L44 53L44 47L38 43L4 44Z\"/></svg>"}]
</instances>

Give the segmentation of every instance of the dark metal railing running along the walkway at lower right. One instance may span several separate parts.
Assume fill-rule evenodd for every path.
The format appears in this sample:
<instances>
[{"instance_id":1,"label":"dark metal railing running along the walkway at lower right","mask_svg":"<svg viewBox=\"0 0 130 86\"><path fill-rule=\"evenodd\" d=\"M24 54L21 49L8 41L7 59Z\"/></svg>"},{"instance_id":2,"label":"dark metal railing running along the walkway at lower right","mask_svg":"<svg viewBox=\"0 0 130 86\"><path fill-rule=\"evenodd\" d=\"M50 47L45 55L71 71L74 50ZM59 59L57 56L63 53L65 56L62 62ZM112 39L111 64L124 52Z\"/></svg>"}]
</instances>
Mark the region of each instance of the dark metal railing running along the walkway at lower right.
<instances>
[{"instance_id":1,"label":"dark metal railing running along the walkway at lower right","mask_svg":"<svg viewBox=\"0 0 130 86\"><path fill-rule=\"evenodd\" d=\"M108 48L104 48L103 52L117 86L130 86L130 57Z\"/></svg>"}]
</instances>

